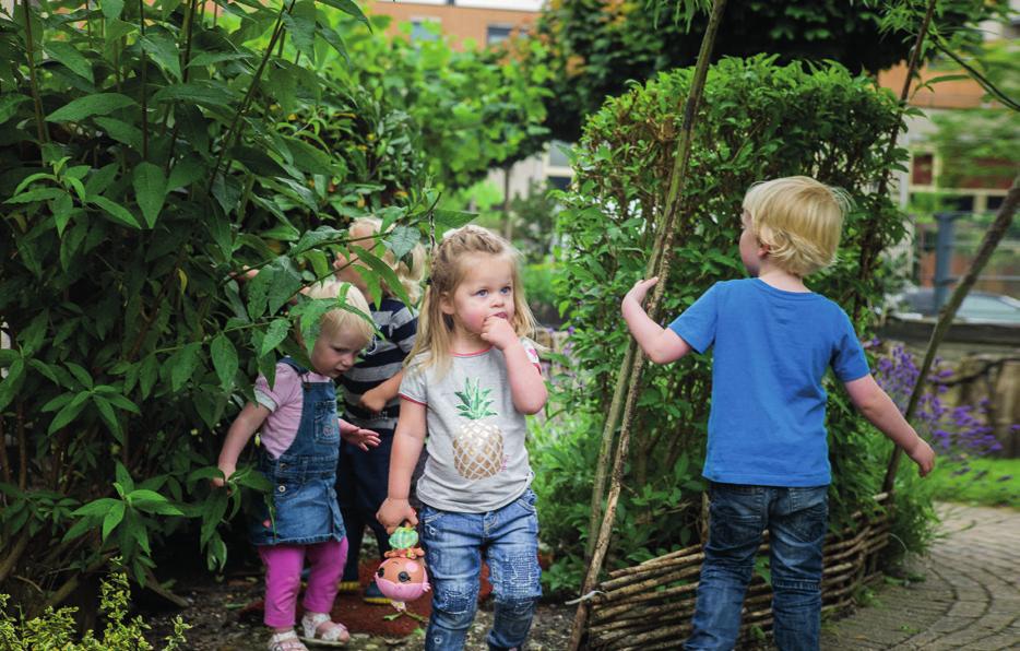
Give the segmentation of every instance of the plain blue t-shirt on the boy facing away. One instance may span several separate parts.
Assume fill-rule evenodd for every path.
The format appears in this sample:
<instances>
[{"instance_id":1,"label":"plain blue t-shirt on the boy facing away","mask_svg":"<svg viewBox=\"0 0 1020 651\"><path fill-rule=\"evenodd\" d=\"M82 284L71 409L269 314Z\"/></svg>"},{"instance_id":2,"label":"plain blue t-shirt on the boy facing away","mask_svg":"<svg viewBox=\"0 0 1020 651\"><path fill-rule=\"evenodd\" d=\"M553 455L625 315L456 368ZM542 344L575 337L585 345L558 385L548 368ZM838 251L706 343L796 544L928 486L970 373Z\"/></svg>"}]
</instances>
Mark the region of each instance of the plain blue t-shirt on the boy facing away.
<instances>
[{"instance_id":1,"label":"plain blue t-shirt on the boy facing away","mask_svg":"<svg viewBox=\"0 0 1020 651\"><path fill-rule=\"evenodd\" d=\"M699 353L715 348L705 478L762 486L831 482L821 379L830 366L843 382L869 372L839 305L758 279L727 281L669 328Z\"/></svg>"}]
</instances>

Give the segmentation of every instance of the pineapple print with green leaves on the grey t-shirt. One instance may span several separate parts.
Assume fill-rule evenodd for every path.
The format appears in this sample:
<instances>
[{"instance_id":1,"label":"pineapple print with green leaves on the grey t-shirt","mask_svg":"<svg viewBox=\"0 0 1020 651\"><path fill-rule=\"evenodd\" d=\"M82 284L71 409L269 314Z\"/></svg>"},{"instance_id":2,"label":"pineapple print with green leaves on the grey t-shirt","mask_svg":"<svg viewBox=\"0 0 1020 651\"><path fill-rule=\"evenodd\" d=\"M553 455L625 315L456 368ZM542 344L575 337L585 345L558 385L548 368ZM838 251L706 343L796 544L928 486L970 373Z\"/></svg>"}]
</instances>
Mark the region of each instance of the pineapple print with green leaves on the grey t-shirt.
<instances>
[{"instance_id":1,"label":"pineapple print with green leaves on the grey t-shirt","mask_svg":"<svg viewBox=\"0 0 1020 651\"><path fill-rule=\"evenodd\" d=\"M473 386L471 379L464 380L464 390L455 391L461 399L456 411L465 419L453 437L453 465L466 480L491 477L502 469L503 433L491 423L482 419L495 416L489 409L491 389L483 390L481 382Z\"/></svg>"}]
</instances>

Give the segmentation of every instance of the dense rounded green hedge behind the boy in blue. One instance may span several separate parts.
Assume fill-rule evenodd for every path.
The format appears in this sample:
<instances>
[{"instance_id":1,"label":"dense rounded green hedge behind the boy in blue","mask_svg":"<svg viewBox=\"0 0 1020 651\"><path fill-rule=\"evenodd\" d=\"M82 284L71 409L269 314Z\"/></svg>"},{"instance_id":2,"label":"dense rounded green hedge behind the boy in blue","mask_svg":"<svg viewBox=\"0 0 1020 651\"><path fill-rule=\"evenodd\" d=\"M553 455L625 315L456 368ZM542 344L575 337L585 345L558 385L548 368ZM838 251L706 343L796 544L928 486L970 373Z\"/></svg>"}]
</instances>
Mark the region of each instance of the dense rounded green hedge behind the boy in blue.
<instances>
[{"instance_id":1,"label":"dense rounded green hedge behind the boy in blue","mask_svg":"<svg viewBox=\"0 0 1020 651\"><path fill-rule=\"evenodd\" d=\"M558 196L564 249L556 287L572 328L577 374L558 398L569 405L569 419L550 421L533 449L545 498L544 540L573 568L554 570L560 578L578 576L588 523L586 513L570 512L562 496L583 494L591 482L590 471L576 464L581 458L593 462L602 436L629 338L619 301L644 273L691 74L663 73L607 100L585 125L571 190ZM903 215L891 199L871 193L885 169L901 165L905 155L896 149L892 159L886 157L899 120L892 95L835 64L724 59L709 73L700 111L664 315L673 318L714 282L745 274L737 251L744 193L756 180L794 174L842 187L855 201L838 262L808 285L844 306L855 298L880 299L885 272L861 279L857 263L865 232L874 237L867 246L879 248L904 234ZM710 363L710 354L690 355L645 370L609 568L698 540ZM831 378L827 388L831 520L838 526L870 502L885 459L863 445L873 435Z\"/></svg>"}]
</instances>

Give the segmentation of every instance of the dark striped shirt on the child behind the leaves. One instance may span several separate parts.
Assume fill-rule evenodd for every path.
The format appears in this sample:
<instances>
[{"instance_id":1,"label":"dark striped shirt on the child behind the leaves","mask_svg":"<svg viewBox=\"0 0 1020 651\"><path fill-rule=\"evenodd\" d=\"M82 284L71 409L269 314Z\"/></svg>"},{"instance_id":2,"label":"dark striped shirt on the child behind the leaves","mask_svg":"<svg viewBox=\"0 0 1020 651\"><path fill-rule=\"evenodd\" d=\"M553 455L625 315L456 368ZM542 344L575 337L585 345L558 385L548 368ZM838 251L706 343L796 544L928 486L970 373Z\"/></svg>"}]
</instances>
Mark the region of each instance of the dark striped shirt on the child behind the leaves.
<instances>
[{"instance_id":1,"label":"dark striped shirt on the child behind the leaves","mask_svg":"<svg viewBox=\"0 0 1020 651\"><path fill-rule=\"evenodd\" d=\"M347 419L360 427L380 430L396 428L400 398L394 396L379 414L358 406L361 395L400 372L404 358L414 346L418 318L400 300L384 297L379 307L372 306L372 321L382 332L361 352L360 360L340 378Z\"/></svg>"}]
</instances>

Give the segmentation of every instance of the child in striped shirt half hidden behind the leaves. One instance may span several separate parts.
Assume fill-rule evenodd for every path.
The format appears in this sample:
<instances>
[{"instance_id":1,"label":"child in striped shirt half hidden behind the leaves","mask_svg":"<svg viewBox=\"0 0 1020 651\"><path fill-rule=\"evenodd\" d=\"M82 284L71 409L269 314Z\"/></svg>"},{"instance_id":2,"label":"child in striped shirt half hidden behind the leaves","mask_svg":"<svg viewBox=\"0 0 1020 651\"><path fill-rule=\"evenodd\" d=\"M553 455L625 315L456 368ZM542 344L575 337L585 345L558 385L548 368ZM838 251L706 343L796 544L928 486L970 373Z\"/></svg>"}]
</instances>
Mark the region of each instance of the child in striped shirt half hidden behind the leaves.
<instances>
[{"instance_id":1,"label":"child in striped shirt half hidden behind the leaves","mask_svg":"<svg viewBox=\"0 0 1020 651\"><path fill-rule=\"evenodd\" d=\"M347 233L352 245L371 250L383 235L381 229L382 221L378 217L359 217L351 223ZM349 543L347 564L340 582L341 593L360 590L358 556L366 525L376 535L380 563L386 560L384 554L390 549L389 536L376 520L376 511L387 495L393 430L400 416L400 399L396 393L404 376L404 359L414 346L418 328L418 318L411 308L422 295L425 247L420 244L415 245L407 256L400 260L391 251L387 251L382 261L393 270L411 305L404 305L393 288L382 282L382 298L378 305L371 306L372 321L381 335L372 338L360 359L340 379L344 417L353 425L379 434L379 446L370 450L346 441L340 445L336 493ZM334 267L337 280L351 283L368 296L368 283L363 275L366 264L358 259L357 252L337 256ZM375 581L365 589L364 600L371 604L390 603Z\"/></svg>"}]
</instances>

